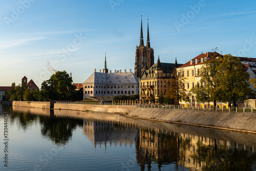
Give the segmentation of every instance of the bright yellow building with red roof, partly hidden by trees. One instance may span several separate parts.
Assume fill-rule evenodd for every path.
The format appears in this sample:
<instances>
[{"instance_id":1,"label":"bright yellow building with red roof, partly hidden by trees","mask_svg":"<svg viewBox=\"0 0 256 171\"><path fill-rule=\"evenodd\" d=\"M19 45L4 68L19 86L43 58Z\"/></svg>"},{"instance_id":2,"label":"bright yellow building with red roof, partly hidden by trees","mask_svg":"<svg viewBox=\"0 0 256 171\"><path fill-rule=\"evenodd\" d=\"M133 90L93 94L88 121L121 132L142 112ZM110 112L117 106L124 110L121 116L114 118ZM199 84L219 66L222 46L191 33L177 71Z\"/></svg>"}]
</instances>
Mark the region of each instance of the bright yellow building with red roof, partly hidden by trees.
<instances>
[{"instance_id":1,"label":"bright yellow building with red roof, partly hidden by trees","mask_svg":"<svg viewBox=\"0 0 256 171\"><path fill-rule=\"evenodd\" d=\"M202 53L197 57L191 59L190 61L186 62L181 67L179 67L179 70L184 72L183 74L184 87L187 93L191 90L191 88L194 88L196 84L200 84L200 86L202 86L202 82L200 81L202 76L201 68L205 65L206 61L210 60L211 56L214 55L214 53L217 53L217 52ZM204 106L208 106L208 103L202 104L197 102L193 94L191 94L189 98L190 98L190 103L184 102L184 101L180 102L181 105L184 105L184 108L187 108L188 105L189 105L189 108L191 106L194 106L194 108L198 108L198 106L200 106L200 108L203 108ZM213 106L213 105L214 105L214 102L210 102L210 106ZM222 109L222 106L223 108L228 108L228 103L217 102L216 106L217 108L220 108L220 109Z\"/></svg>"}]
</instances>

